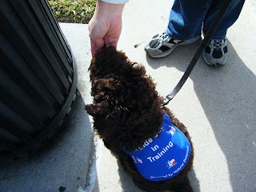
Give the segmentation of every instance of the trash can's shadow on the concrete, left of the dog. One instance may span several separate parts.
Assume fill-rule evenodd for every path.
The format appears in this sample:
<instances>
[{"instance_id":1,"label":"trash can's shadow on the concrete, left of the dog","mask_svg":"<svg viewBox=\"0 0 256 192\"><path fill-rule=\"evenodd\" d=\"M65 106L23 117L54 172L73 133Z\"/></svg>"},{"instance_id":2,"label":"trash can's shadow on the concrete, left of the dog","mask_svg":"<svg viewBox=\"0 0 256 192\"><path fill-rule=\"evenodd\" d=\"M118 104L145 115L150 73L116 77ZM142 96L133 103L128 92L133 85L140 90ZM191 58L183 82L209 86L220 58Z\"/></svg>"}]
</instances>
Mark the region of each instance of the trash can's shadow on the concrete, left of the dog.
<instances>
[{"instance_id":1,"label":"trash can's shadow on the concrete, left of the dog","mask_svg":"<svg viewBox=\"0 0 256 192\"><path fill-rule=\"evenodd\" d=\"M1 191L78 191L85 187L92 133L81 94L76 92L61 129L34 154L1 165Z\"/></svg>"}]
</instances>

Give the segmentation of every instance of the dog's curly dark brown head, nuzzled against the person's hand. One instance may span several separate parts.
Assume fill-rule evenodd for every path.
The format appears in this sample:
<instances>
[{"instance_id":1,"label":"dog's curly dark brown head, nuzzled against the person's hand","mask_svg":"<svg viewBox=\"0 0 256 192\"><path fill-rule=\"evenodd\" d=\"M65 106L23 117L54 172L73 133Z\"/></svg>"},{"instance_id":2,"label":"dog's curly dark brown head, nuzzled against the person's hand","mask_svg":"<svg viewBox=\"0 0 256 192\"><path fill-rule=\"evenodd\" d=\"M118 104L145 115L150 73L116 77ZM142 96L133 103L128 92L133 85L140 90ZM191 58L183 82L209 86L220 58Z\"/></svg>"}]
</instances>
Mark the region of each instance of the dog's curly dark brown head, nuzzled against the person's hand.
<instances>
[{"instance_id":1,"label":"dog's curly dark brown head, nuzzled against the person's hand","mask_svg":"<svg viewBox=\"0 0 256 192\"><path fill-rule=\"evenodd\" d=\"M145 67L130 62L126 54L113 47L95 54L89 70L94 104L86 110L92 116L113 112L111 106L124 111L147 108L150 100L158 98Z\"/></svg>"}]
</instances>

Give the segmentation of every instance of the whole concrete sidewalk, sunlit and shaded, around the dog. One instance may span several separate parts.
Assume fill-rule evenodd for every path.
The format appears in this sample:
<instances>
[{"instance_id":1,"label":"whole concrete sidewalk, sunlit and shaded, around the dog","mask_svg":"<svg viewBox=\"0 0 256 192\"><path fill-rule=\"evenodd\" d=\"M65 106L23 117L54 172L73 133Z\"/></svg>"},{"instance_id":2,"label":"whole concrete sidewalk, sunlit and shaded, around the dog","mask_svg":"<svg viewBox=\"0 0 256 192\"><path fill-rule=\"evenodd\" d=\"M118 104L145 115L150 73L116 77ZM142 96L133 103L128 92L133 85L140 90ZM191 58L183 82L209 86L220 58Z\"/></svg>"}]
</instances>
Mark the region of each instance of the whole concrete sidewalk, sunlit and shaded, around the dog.
<instances>
[{"instance_id":1,"label":"whole concrete sidewalk, sunlit and shaded, around the dog","mask_svg":"<svg viewBox=\"0 0 256 192\"><path fill-rule=\"evenodd\" d=\"M163 96L176 86L199 46L196 42L178 47L161 59L144 52L146 41L165 30L172 3L130 0L123 13L118 44L131 61L146 66ZM200 58L185 86L168 105L194 142L194 167L189 175L194 191L256 191L255 13L254 0L246 0L242 14L227 34L230 57L226 65L210 67ZM77 98L62 131L44 149L1 166L0 191L141 191L102 142L95 140L91 118L84 110L84 105L92 102L87 26L60 26L78 66Z\"/></svg>"}]
</instances>

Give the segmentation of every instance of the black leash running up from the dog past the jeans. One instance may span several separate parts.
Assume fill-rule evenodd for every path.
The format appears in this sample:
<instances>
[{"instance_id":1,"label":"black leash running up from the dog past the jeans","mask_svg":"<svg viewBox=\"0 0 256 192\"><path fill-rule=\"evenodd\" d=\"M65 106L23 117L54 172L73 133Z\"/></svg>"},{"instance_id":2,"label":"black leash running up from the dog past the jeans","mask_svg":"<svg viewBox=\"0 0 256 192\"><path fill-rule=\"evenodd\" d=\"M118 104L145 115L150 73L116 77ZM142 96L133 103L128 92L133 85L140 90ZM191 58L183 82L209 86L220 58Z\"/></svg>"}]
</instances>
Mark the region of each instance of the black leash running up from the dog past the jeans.
<instances>
[{"instance_id":1,"label":"black leash running up from the dog past the jeans","mask_svg":"<svg viewBox=\"0 0 256 192\"><path fill-rule=\"evenodd\" d=\"M206 48L208 42L210 42L210 38L213 36L214 31L217 29L219 22L221 22L227 8L230 6L231 1L232 0L226 0L223 3L221 9L218 11L218 14L214 18L214 22L211 24L210 29L207 31L205 38L198 47L197 52L194 54L190 65L186 68L185 73L183 74L181 80L178 82L177 86L175 86L174 90L172 90L170 94L167 94L165 103L163 103L162 106L166 106L170 102L170 100L173 99L176 94L178 94L178 91L182 89L182 86L186 82L186 79L190 76L191 71L194 69L195 64L198 62L198 58L202 54L202 51Z\"/></svg>"}]
</instances>

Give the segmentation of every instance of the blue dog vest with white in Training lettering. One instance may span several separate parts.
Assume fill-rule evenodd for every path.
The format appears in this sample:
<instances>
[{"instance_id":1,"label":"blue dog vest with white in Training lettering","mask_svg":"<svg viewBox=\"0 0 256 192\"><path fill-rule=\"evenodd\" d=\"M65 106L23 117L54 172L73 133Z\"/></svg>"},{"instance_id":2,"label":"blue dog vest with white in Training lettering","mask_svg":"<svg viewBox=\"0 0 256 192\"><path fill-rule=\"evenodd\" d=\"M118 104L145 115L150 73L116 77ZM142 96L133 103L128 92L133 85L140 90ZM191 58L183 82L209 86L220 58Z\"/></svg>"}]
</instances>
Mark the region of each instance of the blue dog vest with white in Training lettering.
<instances>
[{"instance_id":1,"label":"blue dog vest with white in Training lettering","mask_svg":"<svg viewBox=\"0 0 256 192\"><path fill-rule=\"evenodd\" d=\"M142 148L127 154L144 178L157 182L173 178L183 170L190 152L186 136L170 122L169 115L164 114L160 136L147 139Z\"/></svg>"}]
</instances>

